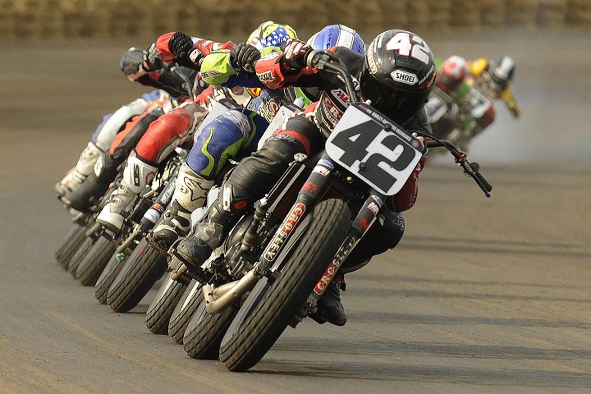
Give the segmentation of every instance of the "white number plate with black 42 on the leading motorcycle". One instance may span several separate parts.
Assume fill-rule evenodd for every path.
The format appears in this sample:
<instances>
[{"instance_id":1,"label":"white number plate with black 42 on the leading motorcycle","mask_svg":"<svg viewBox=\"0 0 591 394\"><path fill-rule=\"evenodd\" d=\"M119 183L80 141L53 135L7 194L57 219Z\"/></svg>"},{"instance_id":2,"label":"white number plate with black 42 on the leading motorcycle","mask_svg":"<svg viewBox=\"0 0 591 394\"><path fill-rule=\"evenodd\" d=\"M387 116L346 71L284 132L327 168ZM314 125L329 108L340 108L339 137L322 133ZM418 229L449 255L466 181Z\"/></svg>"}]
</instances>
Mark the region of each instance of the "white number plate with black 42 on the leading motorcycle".
<instances>
[{"instance_id":1,"label":"white number plate with black 42 on the leading motorcycle","mask_svg":"<svg viewBox=\"0 0 591 394\"><path fill-rule=\"evenodd\" d=\"M384 126L389 125L387 131ZM330 158L386 196L398 193L423 155L421 142L363 103L345 111L326 141Z\"/></svg>"}]
</instances>

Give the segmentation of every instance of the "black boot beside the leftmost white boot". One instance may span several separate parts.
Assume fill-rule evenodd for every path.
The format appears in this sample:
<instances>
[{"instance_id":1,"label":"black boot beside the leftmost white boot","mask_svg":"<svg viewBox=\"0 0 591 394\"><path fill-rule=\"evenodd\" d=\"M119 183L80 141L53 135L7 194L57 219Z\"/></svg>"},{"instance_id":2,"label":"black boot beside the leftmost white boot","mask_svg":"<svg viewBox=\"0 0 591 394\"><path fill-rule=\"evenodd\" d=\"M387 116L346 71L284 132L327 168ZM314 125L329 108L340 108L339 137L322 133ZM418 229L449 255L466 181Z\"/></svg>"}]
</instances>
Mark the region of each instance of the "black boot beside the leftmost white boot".
<instances>
[{"instance_id":1,"label":"black boot beside the leftmost white boot","mask_svg":"<svg viewBox=\"0 0 591 394\"><path fill-rule=\"evenodd\" d=\"M108 190L117 174L117 167L118 163L109 152L100 155L93 171L74 190L66 191L66 194L61 196L61 201L69 208L86 212L92 205L92 198L98 198Z\"/></svg>"}]
</instances>

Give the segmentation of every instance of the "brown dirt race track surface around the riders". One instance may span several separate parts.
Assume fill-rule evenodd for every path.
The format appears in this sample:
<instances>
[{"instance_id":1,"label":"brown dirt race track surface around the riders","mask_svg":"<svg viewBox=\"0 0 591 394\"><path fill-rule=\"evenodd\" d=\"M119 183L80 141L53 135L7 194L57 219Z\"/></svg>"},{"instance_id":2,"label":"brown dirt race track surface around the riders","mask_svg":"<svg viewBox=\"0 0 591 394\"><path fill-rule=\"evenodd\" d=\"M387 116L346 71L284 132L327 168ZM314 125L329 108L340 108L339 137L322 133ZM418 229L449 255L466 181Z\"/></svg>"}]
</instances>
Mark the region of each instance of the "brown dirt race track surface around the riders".
<instances>
[{"instance_id":1,"label":"brown dirt race track surface around the riders","mask_svg":"<svg viewBox=\"0 0 591 394\"><path fill-rule=\"evenodd\" d=\"M117 67L144 43L3 44L0 392L589 392L591 40L430 43L517 61L522 119L497 106L470 152L493 196L433 160L398 248L348 276L345 327L304 321L247 373L150 333L153 291L118 314L54 259L70 216L53 184L101 116L145 91Z\"/></svg>"}]
</instances>

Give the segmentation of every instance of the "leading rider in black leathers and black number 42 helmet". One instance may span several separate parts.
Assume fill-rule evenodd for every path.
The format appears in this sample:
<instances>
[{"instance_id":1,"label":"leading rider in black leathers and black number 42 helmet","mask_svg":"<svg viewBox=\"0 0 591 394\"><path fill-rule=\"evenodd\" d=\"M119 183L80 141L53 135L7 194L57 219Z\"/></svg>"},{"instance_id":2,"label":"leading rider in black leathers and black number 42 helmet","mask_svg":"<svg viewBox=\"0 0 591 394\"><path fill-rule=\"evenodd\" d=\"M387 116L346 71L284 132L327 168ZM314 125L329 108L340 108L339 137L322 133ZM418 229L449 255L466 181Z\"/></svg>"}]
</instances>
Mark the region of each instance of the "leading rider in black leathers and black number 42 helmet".
<instances>
[{"instance_id":1,"label":"leading rider in black leathers and black number 42 helmet","mask_svg":"<svg viewBox=\"0 0 591 394\"><path fill-rule=\"evenodd\" d=\"M311 157L323 148L326 136L348 107L349 97L340 79L325 79L323 70L304 66L304 58L310 50L310 45L293 40L283 53L271 53L256 62L256 75L267 86L274 89L318 87L320 99L304 112L290 116L261 149L234 168L223 184L220 194L223 198L213 203L202 223L197 223L197 226L213 229L213 237L206 238L195 230L193 235L173 246L171 252L191 270L199 272L200 265L219 246L224 235L276 183L294 155ZM343 47L332 50L358 82L359 96L363 100L371 100L372 107L407 131L430 133L423 107L436 72L433 53L422 38L408 31L388 30L374 38L365 56ZM409 83L408 77L400 77L410 74L414 76L413 83ZM418 175L425 161L426 158L421 159L401 191L388 198L379 212L379 220L353 250L340 273L361 268L372 256L398 244L404 233L401 212L415 203ZM331 282L319 299L324 317L336 325L343 325L347 320L340 302L340 286L339 281Z\"/></svg>"}]
</instances>

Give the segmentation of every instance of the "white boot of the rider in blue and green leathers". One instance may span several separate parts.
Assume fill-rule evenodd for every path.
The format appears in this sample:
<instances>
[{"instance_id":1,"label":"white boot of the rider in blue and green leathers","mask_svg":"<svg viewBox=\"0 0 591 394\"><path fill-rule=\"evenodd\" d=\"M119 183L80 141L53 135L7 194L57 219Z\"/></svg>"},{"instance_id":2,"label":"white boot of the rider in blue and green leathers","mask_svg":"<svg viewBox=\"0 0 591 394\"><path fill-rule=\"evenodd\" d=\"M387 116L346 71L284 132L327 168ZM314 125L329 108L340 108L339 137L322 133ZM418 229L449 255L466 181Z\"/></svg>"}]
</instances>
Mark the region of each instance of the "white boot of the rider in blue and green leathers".
<instances>
[{"instance_id":1,"label":"white boot of the rider in blue and green leathers","mask_svg":"<svg viewBox=\"0 0 591 394\"><path fill-rule=\"evenodd\" d=\"M189 234L191 213L205 205L207 192L213 184L214 181L204 179L183 163L178 171L172 202L148 236L148 242L160 250L168 250L179 237Z\"/></svg>"}]
</instances>

